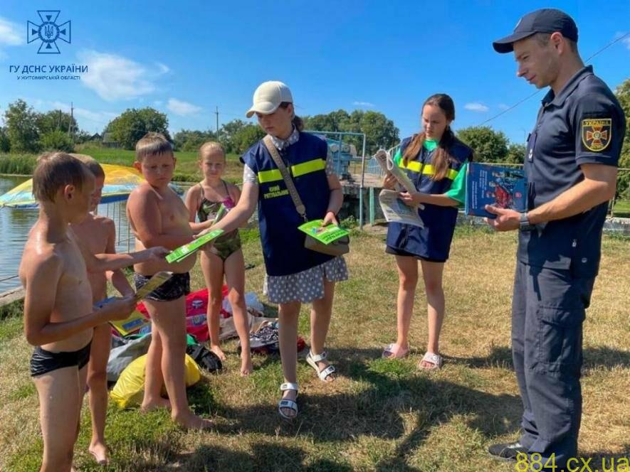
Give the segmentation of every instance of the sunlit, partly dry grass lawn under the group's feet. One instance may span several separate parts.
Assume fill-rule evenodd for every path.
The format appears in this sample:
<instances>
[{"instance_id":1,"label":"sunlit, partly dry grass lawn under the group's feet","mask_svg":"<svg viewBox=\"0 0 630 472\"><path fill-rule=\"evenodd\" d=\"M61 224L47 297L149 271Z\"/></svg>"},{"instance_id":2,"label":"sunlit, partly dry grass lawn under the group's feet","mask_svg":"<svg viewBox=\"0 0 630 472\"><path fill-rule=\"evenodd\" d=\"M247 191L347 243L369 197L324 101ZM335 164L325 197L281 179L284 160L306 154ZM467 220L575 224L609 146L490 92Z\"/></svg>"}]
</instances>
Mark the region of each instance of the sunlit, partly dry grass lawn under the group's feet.
<instances>
[{"instance_id":1,"label":"sunlit, partly dry grass lawn under the group's feet","mask_svg":"<svg viewBox=\"0 0 630 472\"><path fill-rule=\"evenodd\" d=\"M261 293L263 258L250 230L243 238L247 289ZM300 360L300 414L290 424L276 412L282 381L277 356L254 358L240 377L236 343L226 343L226 370L189 389L195 411L214 422L207 432L174 427L165 411L117 410L107 416L112 471L499 471L485 449L517 437L522 406L510 355L510 299L516 235L458 228L446 264L446 321L439 372L416 370L426 343L426 299L416 296L412 355L382 360L395 339L394 260L384 235L353 235L350 281L337 286L328 348L340 377L320 382ZM199 267L193 289L203 285ZM584 323L584 414L580 454L630 450L630 353L627 286L630 242L604 237L602 267ZM308 309L300 334L308 336ZM19 316L19 315L17 315ZM0 316L0 319L2 317ZM31 347L16 313L0 321L0 470L33 471L41 458L38 402L28 377ZM90 420L83 409L75 464L98 467L87 452ZM610 459L607 461L610 465ZM619 469L623 470L623 469Z\"/></svg>"}]
</instances>

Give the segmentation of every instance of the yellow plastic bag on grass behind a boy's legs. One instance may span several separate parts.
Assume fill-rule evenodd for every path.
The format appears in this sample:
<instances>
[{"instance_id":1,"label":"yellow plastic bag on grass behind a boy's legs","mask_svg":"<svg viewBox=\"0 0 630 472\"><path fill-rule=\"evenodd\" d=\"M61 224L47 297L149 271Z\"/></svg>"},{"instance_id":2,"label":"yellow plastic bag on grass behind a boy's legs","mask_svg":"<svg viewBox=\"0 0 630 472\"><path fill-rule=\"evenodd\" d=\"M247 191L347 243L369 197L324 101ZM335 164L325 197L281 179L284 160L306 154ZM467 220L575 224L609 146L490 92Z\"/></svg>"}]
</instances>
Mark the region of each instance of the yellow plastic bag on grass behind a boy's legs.
<instances>
[{"instance_id":1,"label":"yellow plastic bag on grass behind a boy's legs","mask_svg":"<svg viewBox=\"0 0 630 472\"><path fill-rule=\"evenodd\" d=\"M120 408L140 404L142 395L145 392L145 364L147 363L147 355L141 355L127 365L122 371L114 389L110 393L110 397ZM187 354L184 360L184 375L186 386L191 387L199 382L201 373L199 366Z\"/></svg>"}]
</instances>

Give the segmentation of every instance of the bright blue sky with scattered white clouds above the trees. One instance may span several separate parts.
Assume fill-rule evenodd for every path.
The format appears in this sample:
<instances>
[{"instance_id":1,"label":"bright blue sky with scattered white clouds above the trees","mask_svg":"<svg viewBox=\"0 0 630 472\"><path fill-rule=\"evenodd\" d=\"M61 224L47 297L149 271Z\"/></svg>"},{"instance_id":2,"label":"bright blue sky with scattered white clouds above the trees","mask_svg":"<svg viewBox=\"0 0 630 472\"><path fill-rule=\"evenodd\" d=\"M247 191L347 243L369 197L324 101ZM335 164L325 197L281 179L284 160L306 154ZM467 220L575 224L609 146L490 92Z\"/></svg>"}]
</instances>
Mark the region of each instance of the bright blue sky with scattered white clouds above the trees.
<instances>
[{"instance_id":1,"label":"bright blue sky with scattered white clouds above the trees","mask_svg":"<svg viewBox=\"0 0 630 472\"><path fill-rule=\"evenodd\" d=\"M491 42L527 11L572 15L582 58L630 31L630 2L556 1L43 1L0 7L0 114L18 98L38 110L75 107L80 128L100 132L120 112L151 106L172 132L246 120L263 80L282 80L298 114L336 109L383 112L407 136L422 102L446 92L457 128L481 124L532 92L513 55ZM37 10L61 10L72 43L38 55L26 43ZM88 65L82 80L20 81L9 65ZM630 36L592 61L614 89L630 76ZM523 141L543 92L489 124Z\"/></svg>"}]
</instances>

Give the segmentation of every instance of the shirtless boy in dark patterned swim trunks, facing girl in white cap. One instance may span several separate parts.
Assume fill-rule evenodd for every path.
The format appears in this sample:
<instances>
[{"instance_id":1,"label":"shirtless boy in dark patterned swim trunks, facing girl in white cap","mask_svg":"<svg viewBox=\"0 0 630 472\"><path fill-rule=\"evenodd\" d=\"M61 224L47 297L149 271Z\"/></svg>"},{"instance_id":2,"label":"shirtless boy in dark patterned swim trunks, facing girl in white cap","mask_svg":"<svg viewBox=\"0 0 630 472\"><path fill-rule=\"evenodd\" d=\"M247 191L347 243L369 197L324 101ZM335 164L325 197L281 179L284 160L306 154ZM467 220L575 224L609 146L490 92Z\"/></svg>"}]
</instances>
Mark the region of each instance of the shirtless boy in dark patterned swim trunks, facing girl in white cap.
<instances>
[{"instance_id":1,"label":"shirtless boy in dark patterned swim trunks, facing girl in white cap","mask_svg":"<svg viewBox=\"0 0 630 472\"><path fill-rule=\"evenodd\" d=\"M170 250L192 241L189 213L177 193L169 188L175 157L169 141L158 133L147 133L136 144L135 168L146 183L137 187L127 202L127 218L136 237L136 249L157 245ZM191 412L184 384L186 353L186 295L190 292L189 270L196 258L182 262L145 262L134 266L136 289L145 285L153 274L162 270L174 273L164 285L145 299L152 319L152 336L145 370L145 397L142 409L172 407L171 417L182 427L204 429L207 419ZM162 383L169 400L160 396Z\"/></svg>"}]
</instances>

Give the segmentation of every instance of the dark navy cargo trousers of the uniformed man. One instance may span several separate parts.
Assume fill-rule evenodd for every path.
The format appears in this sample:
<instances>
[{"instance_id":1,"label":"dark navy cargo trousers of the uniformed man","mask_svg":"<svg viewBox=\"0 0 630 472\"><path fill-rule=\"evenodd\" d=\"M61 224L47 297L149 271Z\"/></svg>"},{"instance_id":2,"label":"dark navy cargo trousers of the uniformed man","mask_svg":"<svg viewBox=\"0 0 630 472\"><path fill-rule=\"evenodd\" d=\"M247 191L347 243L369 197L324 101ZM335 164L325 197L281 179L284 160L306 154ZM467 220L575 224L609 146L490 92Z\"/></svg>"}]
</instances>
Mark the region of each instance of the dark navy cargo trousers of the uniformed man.
<instances>
[{"instance_id":1,"label":"dark navy cargo trousers of the uniformed man","mask_svg":"<svg viewBox=\"0 0 630 472\"><path fill-rule=\"evenodd\" d=\"M594 280L517 261L512 354L524 408L520 443L542 464L552 455L556 466L577 457L582 322Z\"/></svg>"}]
</instances>

